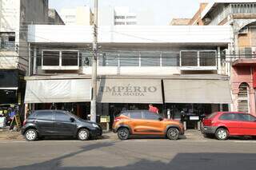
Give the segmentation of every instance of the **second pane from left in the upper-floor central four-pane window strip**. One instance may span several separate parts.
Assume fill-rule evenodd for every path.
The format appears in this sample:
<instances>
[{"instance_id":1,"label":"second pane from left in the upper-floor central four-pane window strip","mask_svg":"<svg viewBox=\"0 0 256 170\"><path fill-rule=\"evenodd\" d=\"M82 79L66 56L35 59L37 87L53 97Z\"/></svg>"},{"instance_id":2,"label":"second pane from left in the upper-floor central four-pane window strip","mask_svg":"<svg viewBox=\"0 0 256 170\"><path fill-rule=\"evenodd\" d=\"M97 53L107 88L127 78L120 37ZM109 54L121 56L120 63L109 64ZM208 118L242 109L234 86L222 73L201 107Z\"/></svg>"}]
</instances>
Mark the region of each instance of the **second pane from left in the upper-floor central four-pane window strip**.
<instances>
[{"instance_id":1,"label":"second pane from left in the upper-floor central four-pane window strip","mask_svg":"<svg viewBox=\"0 0 256 170\"><path fill-rule=\"evenodd\" d=\"M120 53L120 66L139 66L139 53Z\"/></svg>"}]
</instances>

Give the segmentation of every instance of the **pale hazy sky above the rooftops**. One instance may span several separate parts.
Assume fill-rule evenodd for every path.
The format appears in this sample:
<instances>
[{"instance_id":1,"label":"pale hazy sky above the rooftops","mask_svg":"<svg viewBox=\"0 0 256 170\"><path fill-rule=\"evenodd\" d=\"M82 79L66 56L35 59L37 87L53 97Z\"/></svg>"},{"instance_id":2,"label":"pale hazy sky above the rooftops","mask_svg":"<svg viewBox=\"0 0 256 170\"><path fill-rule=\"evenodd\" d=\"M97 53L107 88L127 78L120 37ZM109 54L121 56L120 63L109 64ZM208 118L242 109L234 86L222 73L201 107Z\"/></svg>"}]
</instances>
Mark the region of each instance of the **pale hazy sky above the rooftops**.
<instances>
[{"instance_id":1,"label":"pale hazy sky above the rooftops","mask_svg":"<svg viewBox=\"0 0 256 170\"><path fill-rule=\"evenodd\" d=\"M192 18L200 2L212 0L98 0L99 10L110 6L129 6L131 12L150 10L154 14L153 25L166 26L171 18ZM60 13L62 8L75 6L94 7L94 0L49 0L50 8Z\"/></svg>"}]
</instances>

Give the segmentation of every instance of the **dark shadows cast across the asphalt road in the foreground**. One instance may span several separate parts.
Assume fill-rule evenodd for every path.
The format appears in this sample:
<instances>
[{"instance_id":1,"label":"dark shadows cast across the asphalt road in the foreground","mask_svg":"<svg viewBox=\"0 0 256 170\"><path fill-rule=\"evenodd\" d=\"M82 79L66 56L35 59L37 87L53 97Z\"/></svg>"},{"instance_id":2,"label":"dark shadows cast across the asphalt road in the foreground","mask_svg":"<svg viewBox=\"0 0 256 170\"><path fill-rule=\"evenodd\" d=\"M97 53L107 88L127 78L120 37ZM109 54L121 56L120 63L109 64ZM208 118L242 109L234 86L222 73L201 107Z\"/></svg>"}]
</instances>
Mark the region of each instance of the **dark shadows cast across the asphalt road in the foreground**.
<instances>
[{"instance_id":1,"label":"dark shadows cast across the asphalt road in the foreground","mask_svg":"<svg viewBox=\"0 0 256 170\"><path fill-rule=\"evenodd\" d=\"M105 167L104 164L100 166L88 166L85 167L62 167L62 160L71 156L75 156L81 152L87 152L93 150L95 148L104 148L109 147L112 144L91 144L85 148L82 148L79 152L73 152L67 154L65 156L60 156L53 160L48 160L46 162L42 162L39 164L30 164L26 166L20 166L10 169L64 169L64 170L153 170L153 169L161 169L161 170L186 170L186 169L202 169L202 170L241 170L241 169L254 169L256 162L256 154L246 154L246 153L178 153L174 156L174 159L170 160L168 163L164 163L161 160L145 160L138 159L134 164L127 164L125 166L118 167ZM107 159L107 157L106 157ZM124 157L124 159L126 159Z\"/></svg>"}]
</instances>

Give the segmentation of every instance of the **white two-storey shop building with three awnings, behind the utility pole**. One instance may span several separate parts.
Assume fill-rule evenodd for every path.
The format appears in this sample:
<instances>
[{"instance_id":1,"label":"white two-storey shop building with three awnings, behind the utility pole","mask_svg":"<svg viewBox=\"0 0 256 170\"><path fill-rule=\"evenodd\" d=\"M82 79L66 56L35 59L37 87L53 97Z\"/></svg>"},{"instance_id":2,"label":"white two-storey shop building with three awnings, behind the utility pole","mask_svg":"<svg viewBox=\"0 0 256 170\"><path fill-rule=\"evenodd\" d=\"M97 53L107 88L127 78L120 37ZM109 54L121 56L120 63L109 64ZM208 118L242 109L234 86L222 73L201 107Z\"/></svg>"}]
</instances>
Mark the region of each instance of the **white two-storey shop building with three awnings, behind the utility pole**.
<instances>
[{"instance_id":1,"label":"white two-storey shop building with three awnings, behind the utility pole","mask_svg":"<svg viewBox=\"0 0 256 170\"><path fill-rule=\"evenodd\" d=\"M90 113L92 26L29 26L35 63L26 77L32 109ZM212 34L214 31L216 34ZM34 34L30 34L34 33ZM223 50L230 26L101 26L98 30L98 110L147 109L196 115L228 110L229 77Z\"/></svg>"}]
</instances>

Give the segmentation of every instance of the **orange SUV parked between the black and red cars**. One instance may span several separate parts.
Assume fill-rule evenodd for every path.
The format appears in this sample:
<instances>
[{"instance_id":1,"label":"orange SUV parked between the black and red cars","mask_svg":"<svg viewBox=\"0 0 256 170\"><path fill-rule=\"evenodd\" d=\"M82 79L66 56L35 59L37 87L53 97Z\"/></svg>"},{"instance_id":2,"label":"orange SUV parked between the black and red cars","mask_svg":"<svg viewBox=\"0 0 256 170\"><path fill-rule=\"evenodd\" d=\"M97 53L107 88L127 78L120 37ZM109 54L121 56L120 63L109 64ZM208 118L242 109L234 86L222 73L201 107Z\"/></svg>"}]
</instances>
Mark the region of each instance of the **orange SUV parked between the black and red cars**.
<instances>
[{"instance_id":1,"label":"orange SUV parked between the black and red cars","mask_svg":"<svg viewBox=\"0 0 256 170\"><path fill-rule=\"evenodd\" d=\"M120 140L130 135L163 135L170 140L178 140L184 134L184 127L179 121L167 120L148 110L122 111L114 119L113 131Z\"/></svg>"}]
</instances>

